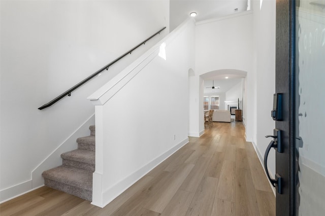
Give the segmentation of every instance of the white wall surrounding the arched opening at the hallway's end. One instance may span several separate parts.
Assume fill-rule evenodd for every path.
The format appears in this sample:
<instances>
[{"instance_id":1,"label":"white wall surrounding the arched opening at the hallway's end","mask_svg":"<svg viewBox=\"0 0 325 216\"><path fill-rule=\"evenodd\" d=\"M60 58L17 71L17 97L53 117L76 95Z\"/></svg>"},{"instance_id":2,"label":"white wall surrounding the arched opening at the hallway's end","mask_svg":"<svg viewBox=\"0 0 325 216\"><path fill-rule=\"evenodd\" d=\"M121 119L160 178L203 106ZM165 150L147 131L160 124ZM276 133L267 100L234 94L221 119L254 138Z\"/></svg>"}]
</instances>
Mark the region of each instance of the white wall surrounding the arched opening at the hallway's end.
<instances>
[{"instance_id":1,"label":"white wall surrounding the arched opening at the hallway's end","mask_svg":"<svg viewBox=\"0 0 325 216\"><path fill-rule=\"evenodd\" d=\"M237 15L227 16L215 20L207 20L196 23L196 79L200 83L200 75L210 71L220 69L236 69L247 72L248 83L253 82L252 57L253 57L253 14L252 12L243 12ZM253 92L252 85L247 85L247 95ZM199 88L199 98L202 97L203 104L203 87ZM236 98L238 99L238 97ZM252 127L252 121L249 116L255 115L251 109L253 97L247 97L247 119L246 128ZM190 110L195 104L190 105ZM199 128L204 130L203 122L203 105L199 106ZM197 118L197 117L190 117ZM198 128L192 126L192 128ZM196 131L198 134L201 130ZM249 132L248 140L252 137L252 131ZM194 131L192 131L194 132Z\"/></svg>"}]
</instances>

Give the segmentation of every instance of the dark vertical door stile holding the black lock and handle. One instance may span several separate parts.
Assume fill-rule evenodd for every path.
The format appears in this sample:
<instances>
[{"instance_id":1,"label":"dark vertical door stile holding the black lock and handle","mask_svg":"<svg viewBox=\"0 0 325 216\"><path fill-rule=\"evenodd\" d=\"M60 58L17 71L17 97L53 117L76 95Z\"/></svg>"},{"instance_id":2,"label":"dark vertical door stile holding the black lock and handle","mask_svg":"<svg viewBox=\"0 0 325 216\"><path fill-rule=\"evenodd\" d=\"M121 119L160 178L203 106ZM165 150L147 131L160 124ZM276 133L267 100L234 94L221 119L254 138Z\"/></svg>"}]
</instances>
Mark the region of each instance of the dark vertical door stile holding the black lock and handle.
<instances>
[{"instance_id":1,"label":"dark vertical door stile holding the black lock and handle","mask_svg":"<svg viewBox=\"0 0 325 216\"><path fill-rule=\"evenodd\" d=\"M282 131L282 153L276 152L276 173L281 176L281 191L276 194L276 215L294 215L293 203L293 45L294 1L276 2L276 83L275 93L282 93L282 121L275 127Z\"/></svg>"}]
</instances>

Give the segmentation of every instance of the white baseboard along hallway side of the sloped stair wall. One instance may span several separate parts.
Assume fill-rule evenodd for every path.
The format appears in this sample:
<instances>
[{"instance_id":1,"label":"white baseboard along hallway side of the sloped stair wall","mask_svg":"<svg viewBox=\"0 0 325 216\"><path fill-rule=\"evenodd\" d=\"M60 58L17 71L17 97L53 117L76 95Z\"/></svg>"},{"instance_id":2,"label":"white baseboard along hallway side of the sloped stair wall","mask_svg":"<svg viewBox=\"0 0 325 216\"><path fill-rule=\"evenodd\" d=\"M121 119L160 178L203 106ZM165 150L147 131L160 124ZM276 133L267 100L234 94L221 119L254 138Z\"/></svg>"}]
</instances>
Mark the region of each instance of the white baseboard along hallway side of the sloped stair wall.
<instances>
[{"instance_id":1,"label":"white baseboard along hallway side of the sloped stair wall","mask_svg":"<svg viewBox=\"0 0 325 216\"><path fill-rule=\"evenodd\" d=\"M123 193L126 189L134 185L137 181L139 181L140 178L142 178L145 174L150 172L153 168L155 168L157 165L159 165L161 162L165 161L168 157L170 157L172 154L174 154L177 150L179 150L181 147L186 145L188 143L188 138L184 139L183 141L179 142L176 146L168 150L167 152L161 154L157 158L153 159L140 169L136 170L132 174L128 175L126 178L122 179L117 184L113 185L109 189L103 192L102 196L102 203L99 203L99 201L92 202L91 204L96 205L98 207L105 207L108 203L110 203L112 200L114 200L116 197L118 197L121 193ZM101 199L96 199L101 200Z\"/></svg>"}]
</instances>

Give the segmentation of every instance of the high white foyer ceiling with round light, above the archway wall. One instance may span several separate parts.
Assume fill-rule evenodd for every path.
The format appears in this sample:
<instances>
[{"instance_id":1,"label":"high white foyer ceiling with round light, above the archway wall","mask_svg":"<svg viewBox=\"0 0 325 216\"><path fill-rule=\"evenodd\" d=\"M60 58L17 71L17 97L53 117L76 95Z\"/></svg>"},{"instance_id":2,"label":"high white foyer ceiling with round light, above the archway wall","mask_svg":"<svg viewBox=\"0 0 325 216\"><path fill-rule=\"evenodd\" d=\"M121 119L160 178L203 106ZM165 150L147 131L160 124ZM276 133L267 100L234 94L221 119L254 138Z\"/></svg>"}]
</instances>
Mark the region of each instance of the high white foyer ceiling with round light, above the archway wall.
<instances>
[{"instance_id":1,"label":"high white foyer ceiling with round light, above the archway wall","mask_svg":"<svg viewBox=\"0 0 325 216\"><path fill-rule=\"evenodd\" d=\"M170 0L170 28L173 30L181 24L191 12L198 14L195 17L198 22L246 10L247 0Z\"/></svg>"}]
</instances>

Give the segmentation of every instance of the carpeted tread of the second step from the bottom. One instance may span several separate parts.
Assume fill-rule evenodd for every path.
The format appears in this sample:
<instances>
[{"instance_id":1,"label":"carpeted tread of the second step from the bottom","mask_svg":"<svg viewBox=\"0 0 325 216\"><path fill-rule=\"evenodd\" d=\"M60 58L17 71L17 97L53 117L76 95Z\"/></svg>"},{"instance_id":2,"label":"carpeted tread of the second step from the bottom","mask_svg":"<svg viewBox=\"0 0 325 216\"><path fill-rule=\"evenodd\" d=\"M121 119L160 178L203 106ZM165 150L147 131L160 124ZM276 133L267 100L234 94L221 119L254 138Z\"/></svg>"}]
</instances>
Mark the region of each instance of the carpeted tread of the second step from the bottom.
<instances>
[{"instance_id":1,"label":"carpeted tread of the second step from the bottom","mask_svg":"<svg viewBox=\"0 0 325 216\"><path fill-rule=\"evenodd\" d=\"M95 152L82 149L62 153L62 159L95 164Z\"/></svg>"}]
</instances>

